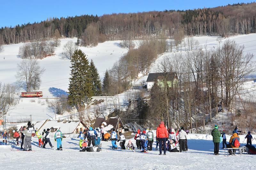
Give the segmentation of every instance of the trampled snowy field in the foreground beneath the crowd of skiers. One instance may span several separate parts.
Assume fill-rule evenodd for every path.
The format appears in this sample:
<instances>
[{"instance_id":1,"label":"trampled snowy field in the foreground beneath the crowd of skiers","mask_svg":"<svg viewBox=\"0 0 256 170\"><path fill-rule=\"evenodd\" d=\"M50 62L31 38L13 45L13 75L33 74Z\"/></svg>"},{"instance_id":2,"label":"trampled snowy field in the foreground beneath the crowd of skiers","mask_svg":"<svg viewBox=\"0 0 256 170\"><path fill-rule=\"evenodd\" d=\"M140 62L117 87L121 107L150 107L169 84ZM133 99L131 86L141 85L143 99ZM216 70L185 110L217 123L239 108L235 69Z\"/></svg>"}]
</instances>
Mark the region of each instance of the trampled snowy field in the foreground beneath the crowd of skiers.
<instances>
[{"instance_id":1,"label":"trampled snowy field in the foreground beneath the crowd of skiers","mask_svg":"<svg viewBox=\"0 0 256 170\"><path fill-rule=\"evenodd\" d=\"M229 136L227 136L229 139ZM244 135L240 136L240 142ZM255 135L253 135L255 138ZM242 156L213 155L211 135L188 134L188 152L166 152L158 155L156 143L153 151L140 153L139 150L112 150L111 142L102 141L100 152L79 152L78 138L63 138L63 151L57 151L56 142L51 138L54 148L36 147L37 138L32 138L32 152L17 151L16 147L0 145L1 168L4 169L255 169L255 155ZM256 146L256 141L253 141ZM126 141L127 145L128 141ZM135 145L135 141L132 139ZM245 144L241 144L245 145ZM118 144L119 146L119 144ZM220 146L222 144L220 143ZM119 147L120 148L120 147Z\"/></svg>"}]
</instances>

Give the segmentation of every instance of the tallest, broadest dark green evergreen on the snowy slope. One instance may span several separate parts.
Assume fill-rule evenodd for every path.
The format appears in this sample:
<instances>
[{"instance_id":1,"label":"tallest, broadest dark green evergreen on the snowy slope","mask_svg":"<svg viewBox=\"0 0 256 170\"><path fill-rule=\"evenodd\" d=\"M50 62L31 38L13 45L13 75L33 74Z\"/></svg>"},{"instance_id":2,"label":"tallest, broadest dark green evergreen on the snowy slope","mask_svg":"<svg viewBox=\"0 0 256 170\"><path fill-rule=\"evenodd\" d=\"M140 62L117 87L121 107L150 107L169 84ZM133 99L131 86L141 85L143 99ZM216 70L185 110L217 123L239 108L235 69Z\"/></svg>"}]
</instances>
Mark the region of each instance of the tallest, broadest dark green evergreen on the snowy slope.
<instances>
[{"instance_id":1,"label":"tallest, broadest dark green evergreen on the snowy slope","mask_svg":"<svg viewBox=\"0 0 256 170\"><path fill-rule=\"evenodd\" d=\"M93 91L89 61L80 49L72 55L70 68L68 102L71 106L75 105L78 110L81 110L83 103L93 96Z\"/></svg>"}]
</instances>

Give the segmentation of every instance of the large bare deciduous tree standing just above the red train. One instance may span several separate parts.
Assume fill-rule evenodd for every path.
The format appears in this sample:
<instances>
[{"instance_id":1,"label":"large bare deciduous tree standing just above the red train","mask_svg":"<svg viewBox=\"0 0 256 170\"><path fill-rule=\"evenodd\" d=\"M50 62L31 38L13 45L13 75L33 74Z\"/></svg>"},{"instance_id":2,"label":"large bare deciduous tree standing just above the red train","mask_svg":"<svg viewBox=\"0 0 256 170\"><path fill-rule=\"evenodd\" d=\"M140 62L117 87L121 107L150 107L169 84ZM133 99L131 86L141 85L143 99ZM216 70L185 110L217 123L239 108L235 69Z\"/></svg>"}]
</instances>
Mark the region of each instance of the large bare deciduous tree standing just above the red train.
<instances>
[{"instance_id":1,"label":"large bare deciduous tree standing just above the red train","mask_svg":"<svg viewBox=\"0 0 256 170\"><path fill-rule=\"evenodd\" d=\"M39 66L36 59L23 59L18 64L17 87L26 91L39 89L44 71L45 69Z\"/></svg>"}]
</instances>

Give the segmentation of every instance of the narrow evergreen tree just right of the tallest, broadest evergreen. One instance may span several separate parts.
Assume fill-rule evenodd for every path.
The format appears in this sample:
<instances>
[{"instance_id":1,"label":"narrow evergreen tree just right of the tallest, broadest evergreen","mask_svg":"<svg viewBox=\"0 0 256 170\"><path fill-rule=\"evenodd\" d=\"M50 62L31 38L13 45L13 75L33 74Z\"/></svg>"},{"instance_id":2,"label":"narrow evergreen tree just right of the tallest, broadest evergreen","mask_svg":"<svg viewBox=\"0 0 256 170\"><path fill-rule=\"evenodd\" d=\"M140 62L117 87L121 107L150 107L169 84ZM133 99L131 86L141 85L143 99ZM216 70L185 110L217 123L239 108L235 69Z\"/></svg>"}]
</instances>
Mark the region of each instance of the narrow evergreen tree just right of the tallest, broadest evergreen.
<instances>
[{"instance_id":1,"label":"narrow evergreen tree just right of the tallest, broadest evergreen","mask_svg":"<svg viewBox=\"0 0 256 170\"><path fill-rule=\"evenodd\" d=\"M100 75L92 60L90 63L90 73L92 78L92 91L94 95L99 95L101 94Z\"/></svg>"}]
</instances>

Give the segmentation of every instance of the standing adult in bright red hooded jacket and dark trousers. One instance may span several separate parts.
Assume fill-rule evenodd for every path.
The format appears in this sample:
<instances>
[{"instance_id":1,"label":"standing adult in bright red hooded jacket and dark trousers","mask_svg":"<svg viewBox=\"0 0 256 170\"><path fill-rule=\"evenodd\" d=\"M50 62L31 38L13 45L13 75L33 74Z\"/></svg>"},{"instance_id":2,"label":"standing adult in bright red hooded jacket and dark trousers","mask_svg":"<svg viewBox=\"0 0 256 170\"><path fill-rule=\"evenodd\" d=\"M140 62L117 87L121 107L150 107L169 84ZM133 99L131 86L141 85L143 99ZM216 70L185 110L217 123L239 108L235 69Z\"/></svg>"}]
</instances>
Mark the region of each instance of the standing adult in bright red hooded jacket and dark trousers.
<instances>
[{"instance_id":1,"label":"standing adult in bright red hooded jacket and dark trousers","mask_svg":"<svg viewBox=\"0 0 256 170\"><path fill-rule=\"evenodd\" d=\"M156 138L159 139L159 155L162 155L162 145L164 144L164 155L166 155L166 138L168 138L168 132L164 126L164 122L161 121L159 127L156 128Z\"/></svg>"}]
</instances>

